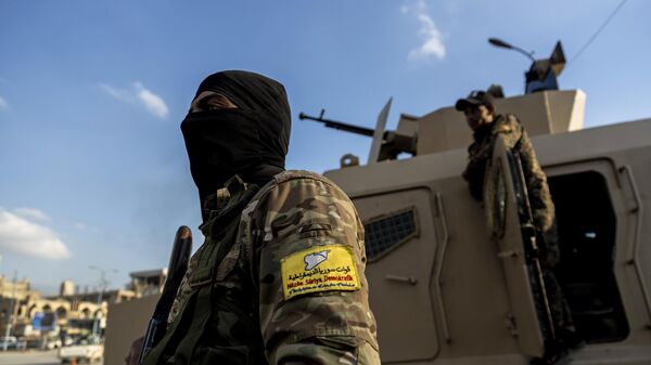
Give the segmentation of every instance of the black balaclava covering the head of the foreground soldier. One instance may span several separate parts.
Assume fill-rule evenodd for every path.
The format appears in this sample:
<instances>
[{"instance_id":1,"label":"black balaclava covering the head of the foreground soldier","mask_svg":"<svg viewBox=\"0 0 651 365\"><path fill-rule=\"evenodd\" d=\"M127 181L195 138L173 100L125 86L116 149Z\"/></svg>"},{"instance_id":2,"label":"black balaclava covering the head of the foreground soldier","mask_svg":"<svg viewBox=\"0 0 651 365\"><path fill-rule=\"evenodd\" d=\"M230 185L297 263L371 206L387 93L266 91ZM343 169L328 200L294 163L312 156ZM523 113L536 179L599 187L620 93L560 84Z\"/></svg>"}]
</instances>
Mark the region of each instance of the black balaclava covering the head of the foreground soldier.
<instances>
[{"instance_id":1,"label":"black balaclava covering the head of the foreground soldier","mask_svg":"<svg viewBox=\"0 0 651 365\"><path fill-rule=\"evenodd\" d=\"M208 76L204 91L227 96L238 108L189 113L181 122L200 199L233 177L259 186L284 170L291 130L284 87L268 77L227 70Z\"/></svg>"}]
</instances>

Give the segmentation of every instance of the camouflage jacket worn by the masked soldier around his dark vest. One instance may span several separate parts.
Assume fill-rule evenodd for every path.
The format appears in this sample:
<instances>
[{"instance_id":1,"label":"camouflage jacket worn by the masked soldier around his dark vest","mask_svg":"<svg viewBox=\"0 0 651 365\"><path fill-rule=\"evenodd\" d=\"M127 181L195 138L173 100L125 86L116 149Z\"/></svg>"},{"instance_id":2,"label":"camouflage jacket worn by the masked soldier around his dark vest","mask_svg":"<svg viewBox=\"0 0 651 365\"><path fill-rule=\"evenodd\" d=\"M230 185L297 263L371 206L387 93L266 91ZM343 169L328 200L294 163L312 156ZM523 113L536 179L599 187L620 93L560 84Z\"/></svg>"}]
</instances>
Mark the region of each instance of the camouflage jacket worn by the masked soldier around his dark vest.
<instances>
[{"instance_id":1,"label":"camouflage jacket worn by the masked soldier around his dark vest","mask_svg":"<svg viewBox=\"0 0 651 365\"><path fill-rule=\"evenodd\" d=\"M232 184L231 179L207 208L228 201ZM210 232L202 231L208 242ZM170 323L192 291L196 256ZM254 323L253 336L269 364L380 364L365 263L363 225L346 194L319 174L285 171L242 211L214 285L235 298L233 311ZM232 348L252 341L231 309L218 312L220 324L210 336Z\"/></svg>"}]
</instances>

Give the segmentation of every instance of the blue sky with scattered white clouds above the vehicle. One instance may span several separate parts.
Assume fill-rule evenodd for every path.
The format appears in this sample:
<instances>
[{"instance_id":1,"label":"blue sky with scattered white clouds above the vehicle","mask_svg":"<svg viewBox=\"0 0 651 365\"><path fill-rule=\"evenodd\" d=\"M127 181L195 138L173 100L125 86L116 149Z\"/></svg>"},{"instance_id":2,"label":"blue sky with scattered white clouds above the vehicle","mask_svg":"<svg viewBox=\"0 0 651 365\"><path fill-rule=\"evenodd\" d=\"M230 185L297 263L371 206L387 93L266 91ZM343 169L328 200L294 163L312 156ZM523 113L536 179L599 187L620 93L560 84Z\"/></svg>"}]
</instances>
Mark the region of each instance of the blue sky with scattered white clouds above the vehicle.
<instances>
[{"instance_id":1,"label":"blue sky with scattered white clouds above the vehicle","mask_svg":"<svg viewBox=\"0 0 651 365\"><path fill-rule=\"evenodd\" d=\"M176 229L199 234L179 123L201 80L248 69L284 83L288 168L322 172L370 139L298 120L366 127L390 96L424 115L498 82L522 93L529 62L562 40L562 89L587 93L586 127L651 117L651 2L0 1L0 273L53 294L112 287L167 264ZM200 243L195 243L195 248ZM114 270L116 272L114 272Z\"/></svg>"}]
</instances>

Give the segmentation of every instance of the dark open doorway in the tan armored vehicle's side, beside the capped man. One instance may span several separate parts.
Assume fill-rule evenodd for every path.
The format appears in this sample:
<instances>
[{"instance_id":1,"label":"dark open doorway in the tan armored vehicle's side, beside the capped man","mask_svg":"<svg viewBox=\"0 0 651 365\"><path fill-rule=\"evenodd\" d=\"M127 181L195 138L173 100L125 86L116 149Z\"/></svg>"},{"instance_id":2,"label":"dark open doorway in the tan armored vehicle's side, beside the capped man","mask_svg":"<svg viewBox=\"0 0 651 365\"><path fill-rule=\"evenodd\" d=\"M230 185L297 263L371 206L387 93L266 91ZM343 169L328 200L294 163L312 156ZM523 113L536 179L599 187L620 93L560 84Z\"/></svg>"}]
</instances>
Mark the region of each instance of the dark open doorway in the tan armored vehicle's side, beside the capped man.
<instances>
[{"instance_id":1,"label":"dark open doorway in the tan armored vehicle's side, beside the capped man","mask_svg":"<svg viewBox=\"0 0 651 365\"><path fill-rule=\"evenodd\" d=\"M557 208L561 259L554 273L578 331L587 342L628 335L613 273L615 212L605 179L598 172L549 178Z\"/></svg>"}]
</instances>

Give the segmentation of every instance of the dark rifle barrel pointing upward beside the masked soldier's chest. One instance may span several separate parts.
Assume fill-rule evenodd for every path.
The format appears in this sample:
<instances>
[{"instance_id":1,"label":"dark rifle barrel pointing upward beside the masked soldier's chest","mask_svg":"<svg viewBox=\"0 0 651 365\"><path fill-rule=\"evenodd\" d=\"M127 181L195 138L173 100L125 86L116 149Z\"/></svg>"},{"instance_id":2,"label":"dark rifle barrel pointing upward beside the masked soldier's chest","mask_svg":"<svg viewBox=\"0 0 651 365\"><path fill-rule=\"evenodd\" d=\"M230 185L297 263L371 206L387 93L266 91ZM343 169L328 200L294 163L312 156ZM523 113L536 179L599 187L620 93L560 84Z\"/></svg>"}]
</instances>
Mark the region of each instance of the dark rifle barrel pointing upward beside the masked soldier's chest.
<instances>
[{"instance_id":1,"label":"dark rifle barrel pointing upward beside the masked soldier's chest","mask_svg":"<svg viewBox=\"0 0 651 365\"><path fill-rule=\"evenodd\" d=\"M186 225L181 225L174 238L174 247L171 249L171 257L169 258L169 265L167 269L167 279L165 281L163 292L154 309L154 314L152 314L152 318L146 327L138 364L142 364L150 351L152 351L152 349L161 342L163 336L165 336L165 331L167 330L167 317L169 316L169 311L174 304L177 290L181 285L181 279L188 270L190 251L192 251L192 231Z\"/></svg>"}]
</instances>

